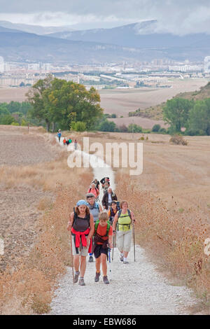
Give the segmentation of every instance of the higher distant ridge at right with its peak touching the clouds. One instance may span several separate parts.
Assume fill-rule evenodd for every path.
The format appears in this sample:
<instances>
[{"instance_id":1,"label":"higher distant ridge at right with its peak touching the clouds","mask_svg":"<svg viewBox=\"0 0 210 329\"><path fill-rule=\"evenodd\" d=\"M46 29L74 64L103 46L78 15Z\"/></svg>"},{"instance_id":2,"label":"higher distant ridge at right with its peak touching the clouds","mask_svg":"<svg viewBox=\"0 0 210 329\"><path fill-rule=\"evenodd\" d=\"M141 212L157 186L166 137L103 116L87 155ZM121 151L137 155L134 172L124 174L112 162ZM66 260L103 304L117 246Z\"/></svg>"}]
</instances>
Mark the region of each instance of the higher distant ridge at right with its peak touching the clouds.
<instances>
[{"instance_id":1,"label":"higher distant ridge at right with its peak touching the clouds","mask_svg":"<svg viewBox=\"0 0 210 329\"><path fill-rule=\"evenodd\" d=\"M169 33L156 32L156 20L139 22L112 29L88 29L83 31L62 31L50 34L56 38L64 38L72 41L92 41L100 43L112 43L134 48L187 48L206 47L210 43L210 35L187 34L177 36ZM175 50L176 52L176 50Z\"/></svg>"}]
</instances>

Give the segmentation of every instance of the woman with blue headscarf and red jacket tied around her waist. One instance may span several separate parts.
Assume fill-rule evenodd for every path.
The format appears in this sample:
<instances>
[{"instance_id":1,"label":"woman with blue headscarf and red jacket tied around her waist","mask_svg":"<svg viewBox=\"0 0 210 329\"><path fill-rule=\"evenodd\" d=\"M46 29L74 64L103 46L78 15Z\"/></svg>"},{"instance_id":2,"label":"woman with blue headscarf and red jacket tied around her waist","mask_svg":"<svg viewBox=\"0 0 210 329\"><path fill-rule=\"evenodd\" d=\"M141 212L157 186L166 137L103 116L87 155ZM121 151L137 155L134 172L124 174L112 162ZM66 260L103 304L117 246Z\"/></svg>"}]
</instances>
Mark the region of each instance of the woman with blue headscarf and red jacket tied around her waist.
<instances>
[{"instance_id":1,"label":"woman with blue headscarf and red jacket tied around her waist","mask_svg":"<svg viewBox=\"0 0 210 329\"><path fill-rule=\"evenodd\" d=\"M71 230L71 245L73 254L73 267L75 275L73 282L85 286L84 275L86 257L92 250L92 235L94 234L94 221L85 200L79 200L75 210L70 214L67 230ZM80 276L80 277L79 277Z\"/></svg>"}]
</instances>

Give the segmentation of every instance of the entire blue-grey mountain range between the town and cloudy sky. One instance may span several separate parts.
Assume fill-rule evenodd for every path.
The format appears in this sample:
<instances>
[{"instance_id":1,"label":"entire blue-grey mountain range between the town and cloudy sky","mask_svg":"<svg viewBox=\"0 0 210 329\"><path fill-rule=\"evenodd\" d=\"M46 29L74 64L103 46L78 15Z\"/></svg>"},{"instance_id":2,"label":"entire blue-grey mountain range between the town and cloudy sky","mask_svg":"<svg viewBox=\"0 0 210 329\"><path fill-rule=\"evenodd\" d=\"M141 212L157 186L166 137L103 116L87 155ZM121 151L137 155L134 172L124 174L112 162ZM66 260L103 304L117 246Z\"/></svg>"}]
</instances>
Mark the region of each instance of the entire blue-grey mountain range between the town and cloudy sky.
<instances>
[{"instance_id":1,"label":"entire blue-grey mountain range between the town and cloudy sky","mask_svg":"<svg viewBox=\"0 0 210 329\"><path fill-rule=\"evenodd\" d=\"M0 56L7 61L99 64L160 58L202 61L210 55L210 35L157 33L156 25L151 20L112 29L38 35L1 27L0 22Z\"/></svg>"}]
</instances>

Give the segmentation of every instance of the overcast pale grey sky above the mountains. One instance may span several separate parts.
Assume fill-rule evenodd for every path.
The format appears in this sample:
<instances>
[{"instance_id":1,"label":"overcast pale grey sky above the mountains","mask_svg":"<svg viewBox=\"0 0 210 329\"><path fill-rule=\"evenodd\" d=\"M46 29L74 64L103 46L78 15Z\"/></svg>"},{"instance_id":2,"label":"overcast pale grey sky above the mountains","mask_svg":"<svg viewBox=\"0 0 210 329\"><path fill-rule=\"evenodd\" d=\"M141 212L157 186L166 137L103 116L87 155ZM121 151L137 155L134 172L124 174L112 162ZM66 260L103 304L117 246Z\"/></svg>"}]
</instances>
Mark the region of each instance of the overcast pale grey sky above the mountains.
<instances>
[{"instance_id":1,"label":"overcast pale grey sky above the mountains","mask_svg":"<svg viewBox=\"0 0 210 329\"><path fill-rule=\"evenodd\" d=\"M210 0L0 0L0 20L92 27L158 20L157 31L210 34Z\"/></svg>"}]
</instances>

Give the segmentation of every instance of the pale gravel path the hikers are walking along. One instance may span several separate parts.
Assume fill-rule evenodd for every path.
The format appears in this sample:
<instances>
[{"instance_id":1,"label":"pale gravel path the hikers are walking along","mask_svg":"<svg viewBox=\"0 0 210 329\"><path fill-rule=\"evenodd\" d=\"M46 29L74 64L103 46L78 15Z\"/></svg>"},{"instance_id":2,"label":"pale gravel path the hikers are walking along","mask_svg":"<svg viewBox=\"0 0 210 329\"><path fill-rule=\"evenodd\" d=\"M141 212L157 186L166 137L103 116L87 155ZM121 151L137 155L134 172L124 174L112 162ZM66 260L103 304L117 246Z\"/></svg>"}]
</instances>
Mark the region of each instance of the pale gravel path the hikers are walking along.
<instances>
[{"instance_id":1,"label":"pale gravel path the hikers are walking along","mask_svg":"<svg viewBox=\"0 0 210 329\"><path fill-rule=\"evenodd\" d=\"M94 155L87 156L94 162ZM109 176L111 186L114 186L111 167L93 168L93 171L97 179ZM130 264L120 262L119 252L115 248L111 278L109 275L111 284L107 286L102 278L99 283L94 283L95 266L89 262L85 272L86 286L73 286L72 270L69 267L55 291L50 314L188 314L187 307L196 304L197 300L192 297L191 290L183 286L172 286L158 273L143 248L136 246L136 262L133 247L128 258ZM99 295L100 302L96 297Z\"/></svg>"}]
</instances>

